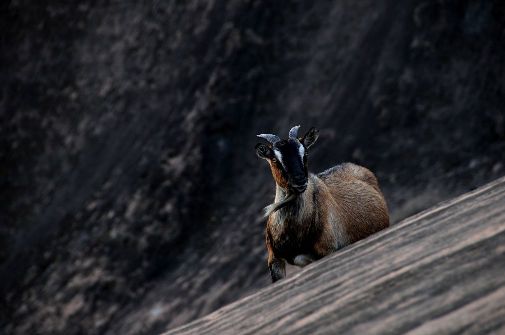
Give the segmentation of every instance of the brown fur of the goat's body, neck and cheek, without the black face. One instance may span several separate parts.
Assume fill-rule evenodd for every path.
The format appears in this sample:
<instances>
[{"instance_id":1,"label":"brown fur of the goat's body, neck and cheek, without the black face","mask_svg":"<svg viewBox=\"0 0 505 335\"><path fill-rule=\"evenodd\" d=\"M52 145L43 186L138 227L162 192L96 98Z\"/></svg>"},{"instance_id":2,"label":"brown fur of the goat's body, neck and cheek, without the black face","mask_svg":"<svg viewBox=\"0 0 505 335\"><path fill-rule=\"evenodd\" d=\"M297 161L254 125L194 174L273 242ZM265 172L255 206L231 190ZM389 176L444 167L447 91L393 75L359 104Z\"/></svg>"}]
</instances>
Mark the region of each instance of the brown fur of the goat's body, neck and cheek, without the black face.
<instances>
[{"instance_id":1,"label":"brown fur of the goat's body, neck and cheek, without the black face","mask_svg":"<svg viewBox=\"0 0 505 335\"><path fill-rule=\"evenodd\" d=\"M271 167L278 201L288 185L281 171L272 163ZM284 260L305 266L296 262L317 260L388 226L386 201L368 169L344 163L311 174L307 190L269 216L266 240L272 280L284 276Z\"/></svg>"}]
</instances>

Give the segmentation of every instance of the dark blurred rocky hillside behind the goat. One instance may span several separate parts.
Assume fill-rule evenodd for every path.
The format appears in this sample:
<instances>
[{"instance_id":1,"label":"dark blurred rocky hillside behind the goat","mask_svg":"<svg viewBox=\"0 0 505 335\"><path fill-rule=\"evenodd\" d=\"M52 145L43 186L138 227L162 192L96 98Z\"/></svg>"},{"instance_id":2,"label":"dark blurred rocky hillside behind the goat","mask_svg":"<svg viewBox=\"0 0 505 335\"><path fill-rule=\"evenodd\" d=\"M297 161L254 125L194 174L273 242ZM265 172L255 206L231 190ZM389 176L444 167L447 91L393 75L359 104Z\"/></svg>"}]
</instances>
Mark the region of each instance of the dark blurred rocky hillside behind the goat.
<instances>
[{"instance_id":1,"label":"dark blurred rocky hillside behind the goat","mask_svg":"<svg viewBox=\"0 0 505 335\"><path fill-rule=\"evenodd\" d=\"M270 284L256 134L391 224L505 174L493 0L3 2L0 332L156 334Z\"/></svg>"}]
</instances>

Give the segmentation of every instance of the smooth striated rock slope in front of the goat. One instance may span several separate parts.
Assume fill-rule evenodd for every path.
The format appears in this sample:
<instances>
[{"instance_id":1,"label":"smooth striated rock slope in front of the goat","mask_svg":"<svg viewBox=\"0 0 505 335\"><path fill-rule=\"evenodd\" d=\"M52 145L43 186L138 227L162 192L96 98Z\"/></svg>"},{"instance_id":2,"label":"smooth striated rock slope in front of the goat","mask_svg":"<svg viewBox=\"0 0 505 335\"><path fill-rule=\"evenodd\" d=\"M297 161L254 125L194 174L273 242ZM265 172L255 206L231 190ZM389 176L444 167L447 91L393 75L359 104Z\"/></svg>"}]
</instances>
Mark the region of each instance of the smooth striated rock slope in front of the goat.
<instances>
[{"instance_id":1,"label":"smooth striated rock slope in front of the goat","mask_svg":"<svg viewBox=\"0 0 505 335\"><path fill-rule=\"evenodd\" d=\"M169 334L501 334L505 178Z\"/></svg>"}]
</instances>

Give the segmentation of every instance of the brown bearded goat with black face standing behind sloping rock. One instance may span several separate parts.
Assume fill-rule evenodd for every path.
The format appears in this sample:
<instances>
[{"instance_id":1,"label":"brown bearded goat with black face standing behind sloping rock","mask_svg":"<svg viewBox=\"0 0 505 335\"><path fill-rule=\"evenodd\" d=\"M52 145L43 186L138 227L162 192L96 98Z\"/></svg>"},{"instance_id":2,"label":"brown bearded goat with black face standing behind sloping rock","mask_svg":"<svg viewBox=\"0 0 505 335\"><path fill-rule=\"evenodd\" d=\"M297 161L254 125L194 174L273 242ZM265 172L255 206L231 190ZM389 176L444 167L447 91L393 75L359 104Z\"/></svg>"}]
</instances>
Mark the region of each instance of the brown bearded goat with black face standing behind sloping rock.
<instances>
[{"instance_id":1,"label":"brown bearded goat with black face standing behind sloping rock","mask_svg":"<svg viewBox=\"0 0 505 335\"><path fill-rule=\"evenodd\" d=\"M255 149L270 164L276 183L275 203L264 208L272 282L286 275L286 262L304 267L389 227L386 201L374 174L353 163L309 173L308 148L319 131L313 127L298 138L299 128L291 128L285 140L257 135L270 144L258 143Z\"/></svg>"}]
</instances>

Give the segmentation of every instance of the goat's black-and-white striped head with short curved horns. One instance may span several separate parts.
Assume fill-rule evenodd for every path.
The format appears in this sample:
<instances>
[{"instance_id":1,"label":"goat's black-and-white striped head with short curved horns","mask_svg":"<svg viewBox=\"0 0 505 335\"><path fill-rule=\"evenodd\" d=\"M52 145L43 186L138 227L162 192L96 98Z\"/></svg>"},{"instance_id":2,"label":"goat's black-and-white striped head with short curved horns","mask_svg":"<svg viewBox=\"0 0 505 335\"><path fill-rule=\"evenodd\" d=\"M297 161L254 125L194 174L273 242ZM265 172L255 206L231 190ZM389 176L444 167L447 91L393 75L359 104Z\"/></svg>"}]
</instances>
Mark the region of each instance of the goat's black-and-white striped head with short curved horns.
<instances>
[{"instance_id":1,"label":"goat's black-and-white striped head with short curved horns","mask_svg":"<svg viewBox=\"0 0 505 335\"><path fill-rule=\"evenodd\" d=\"M307 189L309 170L307 150L319 136L319 130L311 128L304 137L298 137L300 126L291 128L289 137L281 140L272 134L256 135L267 140L270 146L256 145L256 154L270 163L274 180L281 188L299 194Z\"/></svg>"}]
</instances>

